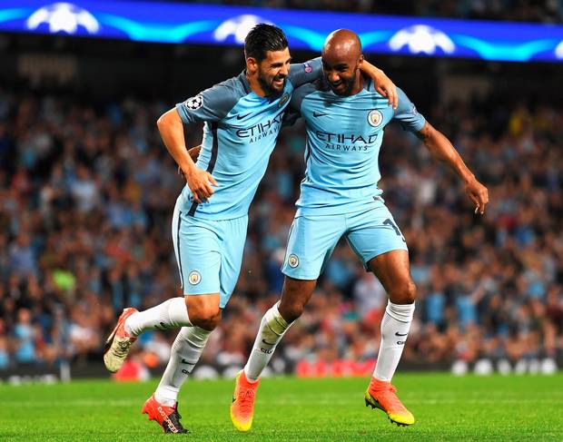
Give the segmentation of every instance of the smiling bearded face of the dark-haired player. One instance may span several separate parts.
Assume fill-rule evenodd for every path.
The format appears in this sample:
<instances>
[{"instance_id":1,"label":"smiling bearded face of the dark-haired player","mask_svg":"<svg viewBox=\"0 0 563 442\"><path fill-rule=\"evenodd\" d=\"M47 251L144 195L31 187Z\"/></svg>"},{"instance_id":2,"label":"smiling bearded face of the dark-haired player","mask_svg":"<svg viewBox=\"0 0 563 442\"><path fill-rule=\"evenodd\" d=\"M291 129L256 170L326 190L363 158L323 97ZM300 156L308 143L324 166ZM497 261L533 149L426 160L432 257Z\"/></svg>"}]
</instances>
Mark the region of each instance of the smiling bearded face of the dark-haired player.
<instances>
[{"instance_id":1,"label":"smiling bearded face of the dark-haired player","mask_svg":"<svg viewBox=\"0 0 563 442\"><path fill-rule=\"evenodd\" d=\"M282 51L266 51L266 57L261 62L252 57L246 59L247 72L250 77L256 78L264 95L283 91L290 64L291 55L287 47Z\"/></svg>"}]
</instances>

